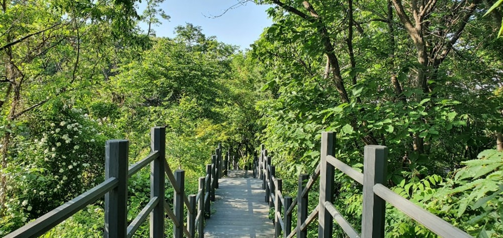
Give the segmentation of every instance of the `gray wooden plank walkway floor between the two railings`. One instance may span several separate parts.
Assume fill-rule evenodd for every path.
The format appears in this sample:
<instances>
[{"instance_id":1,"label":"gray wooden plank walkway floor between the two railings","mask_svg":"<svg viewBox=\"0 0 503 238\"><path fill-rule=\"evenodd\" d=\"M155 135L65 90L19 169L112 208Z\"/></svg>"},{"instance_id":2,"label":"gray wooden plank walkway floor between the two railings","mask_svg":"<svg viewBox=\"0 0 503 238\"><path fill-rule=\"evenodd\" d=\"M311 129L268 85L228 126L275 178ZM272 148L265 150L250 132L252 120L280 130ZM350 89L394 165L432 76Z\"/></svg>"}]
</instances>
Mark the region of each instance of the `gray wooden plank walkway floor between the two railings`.
<instances>
[{"instance_id":1,"label":"gray wooden plank walkway floor between the two railings","mask_svg":"<svg viewBox=\"0 0 503 238\"><path fill-rule=\"evenodd\" d=\"M204 237L274 237L265 194L253 172L229 170L227 178L219 179Z\"/></svg>"}]
</instances>

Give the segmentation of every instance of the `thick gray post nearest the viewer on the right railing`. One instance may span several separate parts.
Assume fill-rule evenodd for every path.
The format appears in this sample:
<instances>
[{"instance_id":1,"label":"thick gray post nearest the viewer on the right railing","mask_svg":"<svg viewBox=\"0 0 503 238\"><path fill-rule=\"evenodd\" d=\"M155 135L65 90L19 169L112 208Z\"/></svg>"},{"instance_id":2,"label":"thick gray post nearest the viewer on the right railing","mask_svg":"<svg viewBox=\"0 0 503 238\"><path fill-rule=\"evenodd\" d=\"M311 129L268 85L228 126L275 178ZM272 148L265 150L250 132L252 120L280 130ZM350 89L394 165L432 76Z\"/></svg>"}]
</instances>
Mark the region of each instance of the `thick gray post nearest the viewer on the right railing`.
<instances>
[{"instance_id":1,"label":"thick gray post nearest the viewer on the right railing","mask_svg":"<svg viewBox=\"0 0 503 238\"><path fill-rule=\"evenodd\" d=\"M385 201L374 194L375 184L385 184L388 148L366 145L363 162L362 238L384 237Z\"/></svg>"}]
</instances>

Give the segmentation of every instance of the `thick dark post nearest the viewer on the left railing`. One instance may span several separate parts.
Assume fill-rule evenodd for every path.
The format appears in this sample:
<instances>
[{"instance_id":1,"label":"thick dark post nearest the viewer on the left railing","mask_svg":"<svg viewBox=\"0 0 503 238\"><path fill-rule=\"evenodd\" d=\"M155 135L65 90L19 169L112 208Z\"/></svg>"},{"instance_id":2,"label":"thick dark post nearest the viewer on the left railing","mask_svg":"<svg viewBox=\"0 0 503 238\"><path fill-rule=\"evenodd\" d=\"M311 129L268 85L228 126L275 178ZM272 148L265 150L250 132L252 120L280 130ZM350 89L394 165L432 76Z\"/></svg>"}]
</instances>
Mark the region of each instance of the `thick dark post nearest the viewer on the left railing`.
<instances>
[{"instance_id":1,"label":"thick dark post nearest the viewer on the left railing","mask_svg":"<svg viewBox=\"0 0 503 238\"><path fill-rule=\"evenodd\" d=\"M117 187L105 194L105 238L124 238L127 233L127 181L129 141L107 140L105 180L117 178Z\"/></svg>"}]
</instances>

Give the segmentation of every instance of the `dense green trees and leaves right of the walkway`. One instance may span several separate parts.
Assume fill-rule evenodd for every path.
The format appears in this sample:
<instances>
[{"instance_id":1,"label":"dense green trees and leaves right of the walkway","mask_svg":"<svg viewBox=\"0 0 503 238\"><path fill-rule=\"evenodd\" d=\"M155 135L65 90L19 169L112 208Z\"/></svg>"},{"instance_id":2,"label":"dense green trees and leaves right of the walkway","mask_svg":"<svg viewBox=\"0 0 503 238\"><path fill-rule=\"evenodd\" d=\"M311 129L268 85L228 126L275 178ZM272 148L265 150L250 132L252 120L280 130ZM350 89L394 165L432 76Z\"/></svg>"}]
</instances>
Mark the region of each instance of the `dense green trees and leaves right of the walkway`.
<instances>
[{"instance_id":1,"label":"dense green trees and leaves right of the walkway","mask_svg":"<svg viewBox=\"0 0 503 238\"><path fill-rule=\"evenodd\" d=\"M500 237L501 152L487 149L503 150L501 12L483 17L496 2L260 1L274 24L249 54L269 94L260 138L292 181L283 188L294 193L291 172L314 170L319 134L332 130L341 160L361 168L364 145L386 145L388 186L474 236ZM336 196L358 229L360 186L340 175ZM389 210L387 236L435 236Z\"/></svg>"}]
</instances>

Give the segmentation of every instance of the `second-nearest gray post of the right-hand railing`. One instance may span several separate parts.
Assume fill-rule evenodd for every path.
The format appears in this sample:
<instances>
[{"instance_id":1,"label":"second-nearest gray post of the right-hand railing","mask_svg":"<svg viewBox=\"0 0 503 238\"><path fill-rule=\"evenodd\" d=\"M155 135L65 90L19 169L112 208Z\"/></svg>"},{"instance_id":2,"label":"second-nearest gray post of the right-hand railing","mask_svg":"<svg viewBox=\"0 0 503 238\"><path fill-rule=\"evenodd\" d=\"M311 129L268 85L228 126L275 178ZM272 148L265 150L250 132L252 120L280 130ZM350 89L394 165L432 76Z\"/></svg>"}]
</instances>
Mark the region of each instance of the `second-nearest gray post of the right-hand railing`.
<instances>
[{"instance_id":1,"label":"second-nearest gray post of the right-hand railing","mask_svg":"<svg viewBox=\"0 0 503 238\"><path fill-rule=\"evenodd\" d=\"M327 155L335 155L334 142L336 134L333 132L321 133L321 166L319 180L319 212L318 212L318 237L332 237L333 218L325 209L325 201L333 203L333 176L334 168L326 162Z\"/></svg>"}]
</instances>

